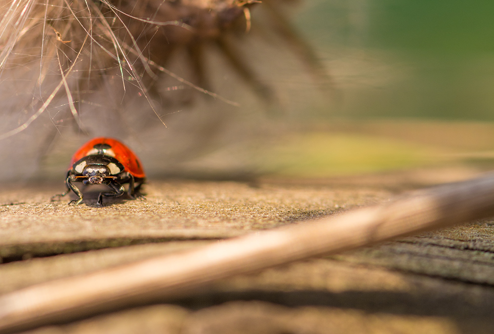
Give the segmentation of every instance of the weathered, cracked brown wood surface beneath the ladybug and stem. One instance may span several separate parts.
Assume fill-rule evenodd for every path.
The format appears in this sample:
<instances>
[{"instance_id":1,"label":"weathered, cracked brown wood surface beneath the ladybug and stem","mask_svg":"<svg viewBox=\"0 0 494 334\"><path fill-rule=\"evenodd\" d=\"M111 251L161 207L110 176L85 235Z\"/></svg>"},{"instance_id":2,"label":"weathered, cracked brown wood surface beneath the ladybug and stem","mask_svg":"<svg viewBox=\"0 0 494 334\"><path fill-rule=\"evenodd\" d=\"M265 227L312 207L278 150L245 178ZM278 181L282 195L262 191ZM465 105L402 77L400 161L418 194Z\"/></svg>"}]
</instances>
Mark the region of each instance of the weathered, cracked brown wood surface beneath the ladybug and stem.
<instances>
[{"instance_id":1,"label":"weathered, cracked brown wood surface beneath the ladybug and stem","mask_svg":"<svg viewBox=\"0 0 494 334\"><path fill-rule=\"evenodd\" d=\"M400 179L363 186L334 180L154 181L146 201L105 208L91 207L94 196L89 206L50 203L58 191L53 187L11 188L0 195L0 251L6 262L0 265L0 293L382 203L397 189L424 185ZM35 333L142 333L143 328L146 333L489 333L491 228L483 220L268 269L175 304L136 307Z\"/></svg>"}]
</instances>

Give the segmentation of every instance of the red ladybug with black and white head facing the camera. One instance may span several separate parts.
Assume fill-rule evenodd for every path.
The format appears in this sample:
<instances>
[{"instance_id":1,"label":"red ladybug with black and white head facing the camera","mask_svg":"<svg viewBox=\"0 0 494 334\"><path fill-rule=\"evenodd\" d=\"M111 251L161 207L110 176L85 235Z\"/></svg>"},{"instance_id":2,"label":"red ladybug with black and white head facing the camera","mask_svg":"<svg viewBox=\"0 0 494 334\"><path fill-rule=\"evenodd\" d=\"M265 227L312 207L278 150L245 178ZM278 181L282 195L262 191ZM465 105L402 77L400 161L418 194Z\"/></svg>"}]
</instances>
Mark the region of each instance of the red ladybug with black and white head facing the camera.
<instances>
[{"instance_id":1,"label":"red ladybug with black and white head facing the camera","mask_svg":"<svg viewBox=\"0 0 494 334\"><path fill-rule=\"evenodd\" d=\"M69 205L79 205L82 193L74 182L83 184L106 184L111 191L103 191L98 196L98 205L102 205L103 196L118 197L125 192L124 183L128 183L127 194L135 198L135 192L144 183L146 175L139 158L123 143L112 138L94 138L74 154L67 170L65 183L67 191L54 197L67 195L71 190L79 199Z\"/></svg>"}]
</instances>

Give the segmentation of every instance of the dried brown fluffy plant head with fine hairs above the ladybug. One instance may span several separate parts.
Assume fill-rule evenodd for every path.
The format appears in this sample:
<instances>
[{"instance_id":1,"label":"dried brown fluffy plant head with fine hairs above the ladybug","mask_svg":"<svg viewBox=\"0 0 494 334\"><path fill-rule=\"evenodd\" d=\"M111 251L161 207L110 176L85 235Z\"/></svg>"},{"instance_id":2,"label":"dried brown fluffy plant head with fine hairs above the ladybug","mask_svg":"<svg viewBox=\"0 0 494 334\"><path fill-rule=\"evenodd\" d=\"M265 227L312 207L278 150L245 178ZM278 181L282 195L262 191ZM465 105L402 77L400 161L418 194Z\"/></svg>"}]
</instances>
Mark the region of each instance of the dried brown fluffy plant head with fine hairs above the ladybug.
<instances>
[{"instance_id":1,"label":"dried brown fluffy plant head with fine hairs above the ladybug","mask_svg":"<svg viewBox=\"0 0 494 334\"><path fill-rule=\"evenodd\" d=\"M0 166L9 170L0 177L31 173L34 160L56 138L76 133L125 139L151 125L165 128L199 96L235 109L238 101L211 83L205 56L211 47L228 64L226 71L261 100L270 100L271 90L237 48L253 29L258 9L271 24L258 31L276 32L308 72L322 75L309 45L280 14L285 2L0 0L0 157L17 160L16 168ZM202 116L181 121L189 136L199 136L194 143L206 145L200 136L211 137L224 126L225 113L218 113L206 121ZM194 123L197 128L190 126Z\"/></svg>"}]
</instances>

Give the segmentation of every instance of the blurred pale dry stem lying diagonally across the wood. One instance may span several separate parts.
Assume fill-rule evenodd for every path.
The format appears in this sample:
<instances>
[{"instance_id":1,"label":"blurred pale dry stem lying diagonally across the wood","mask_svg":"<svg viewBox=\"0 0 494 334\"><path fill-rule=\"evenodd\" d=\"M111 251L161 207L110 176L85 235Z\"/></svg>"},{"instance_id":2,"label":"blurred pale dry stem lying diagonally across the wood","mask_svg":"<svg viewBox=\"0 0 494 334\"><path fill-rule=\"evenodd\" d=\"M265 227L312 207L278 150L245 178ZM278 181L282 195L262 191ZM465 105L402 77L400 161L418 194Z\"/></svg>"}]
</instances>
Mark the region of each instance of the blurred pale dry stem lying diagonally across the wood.
<instances>
[{"instance_id":1,"label":"blurred pale dry stem lying diagonally across the wood","mask_svg":"<svg viewBox=\"0 0 494 334\"><path fill-rule=\"evenodd\" d=\"M0 298L0 333L191 295L217 280L494 215L494 175L314 222L57 280Z\"/></svg>"}]
</instances>

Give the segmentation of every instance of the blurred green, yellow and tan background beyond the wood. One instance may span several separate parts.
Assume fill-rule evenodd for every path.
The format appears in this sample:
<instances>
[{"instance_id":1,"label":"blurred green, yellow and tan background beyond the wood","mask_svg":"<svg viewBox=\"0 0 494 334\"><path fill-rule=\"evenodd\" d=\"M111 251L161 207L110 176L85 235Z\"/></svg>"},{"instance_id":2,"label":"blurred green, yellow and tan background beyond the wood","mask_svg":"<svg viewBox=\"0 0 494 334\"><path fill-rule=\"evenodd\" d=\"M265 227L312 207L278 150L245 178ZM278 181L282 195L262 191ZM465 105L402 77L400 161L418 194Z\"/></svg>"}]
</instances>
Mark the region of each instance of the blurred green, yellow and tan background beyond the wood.
<instances>
[{"instance_id":1,"label":"blurred green, yellow and tan background beyond the wood","mask_svg":"<svg viewBox=\"0 0 494 334\"><path fill-rule=\"evenodd\" d=\"M166 131L141 133L147 144L129 145L149 175L337 178L455 168L471 175L494 168L494 1L294 2L283 8L328 69L331 88L318 86L279 35L264 38L273 18L262 16L262 3L254 6L252 17L261 14L262 24L253 22L247 35L253 42L246 38L239 47L262 83L276 90L279 105L256 104L251 87L226 80L236 77L230 64L212 67L220 74L215 92L242 107L223 114L213 111L224 103L170 112ZM174 123L181 115L185 123ZM203 123L205 134L189 126ZM217 123L224 123L217 126L224 134L209 131ZM205 136L211 144L201 148ZM61 147L60 158L45 158L46 168L58 169L43 175L62 175L80 144ZM189 154L197 146L199 154Z\"/></svg>"}]
</instances>

